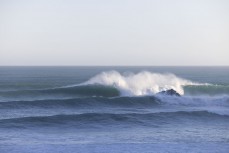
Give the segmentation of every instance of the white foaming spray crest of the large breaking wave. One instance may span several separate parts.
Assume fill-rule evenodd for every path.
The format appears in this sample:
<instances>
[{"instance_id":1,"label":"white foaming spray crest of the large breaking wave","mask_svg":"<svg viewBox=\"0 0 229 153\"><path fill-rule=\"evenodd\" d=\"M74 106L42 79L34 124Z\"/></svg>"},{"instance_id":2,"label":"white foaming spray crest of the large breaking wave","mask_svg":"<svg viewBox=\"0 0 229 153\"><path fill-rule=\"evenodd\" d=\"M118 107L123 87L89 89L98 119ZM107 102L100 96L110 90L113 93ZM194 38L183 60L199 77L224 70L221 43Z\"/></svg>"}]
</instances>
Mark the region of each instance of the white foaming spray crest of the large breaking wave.
<instances>
[{"instance_id":1,"label":"white foaming spray crest of the large breaking wave","mask_svg":"<svg viewBox=\"0 0 229 153\"><path fill-rule=\"evenodd\" d=\"M118 88L124 96L153 95L163 90L174 89L184 94L183 86L199 85L174 74L143 71L122 75L117 71L102 72L81 85L101 84Z\"/></svg>"}]
</instances>

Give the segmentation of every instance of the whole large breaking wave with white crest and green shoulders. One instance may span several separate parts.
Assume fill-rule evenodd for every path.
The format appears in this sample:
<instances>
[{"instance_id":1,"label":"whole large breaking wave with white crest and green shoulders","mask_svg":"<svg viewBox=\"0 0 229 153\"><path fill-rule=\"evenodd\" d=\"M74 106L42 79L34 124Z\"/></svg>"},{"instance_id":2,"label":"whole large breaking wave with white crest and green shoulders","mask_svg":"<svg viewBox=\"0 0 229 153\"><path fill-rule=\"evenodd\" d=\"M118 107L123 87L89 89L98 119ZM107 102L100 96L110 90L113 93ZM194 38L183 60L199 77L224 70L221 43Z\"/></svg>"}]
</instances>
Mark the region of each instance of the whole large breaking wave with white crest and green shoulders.
<instances>
[{"instance_id":1,"label":"whole large breaking wave with white crest and green shoulders","mask_svg":"<svg viewBox=\"0 0 229 153\"><path fill-rule=\"evenodd\" d=\"M174 74L143 71L120 74L102 72L88 81L76 85L50 89L0 91L0 102L56 100L77 97L136 97L153 96L158 92L174 89L181 95L229 95L229 86L197 83Z\"/></svg>"}]
</instances>

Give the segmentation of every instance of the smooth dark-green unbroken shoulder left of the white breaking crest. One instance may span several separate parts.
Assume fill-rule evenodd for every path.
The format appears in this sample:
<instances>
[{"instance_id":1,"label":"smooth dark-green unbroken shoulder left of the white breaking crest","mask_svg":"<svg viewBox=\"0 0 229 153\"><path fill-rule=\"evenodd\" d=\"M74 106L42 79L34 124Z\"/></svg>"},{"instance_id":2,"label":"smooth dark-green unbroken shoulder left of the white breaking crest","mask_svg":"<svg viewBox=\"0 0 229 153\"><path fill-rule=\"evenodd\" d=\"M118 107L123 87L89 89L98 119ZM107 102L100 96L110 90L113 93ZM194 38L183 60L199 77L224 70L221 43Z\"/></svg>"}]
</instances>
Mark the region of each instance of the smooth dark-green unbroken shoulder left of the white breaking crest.
<instances>
[{"instance_id":1,"label":"smooth dark-green unbroken shoulder left of the white breaking crest","mask_svg":"<svg viewBox=\"0 0 229 153\"><path fill-rule=\"evenodd\" d=\"M82 85L65 88L51 88L39 90L17 90L0 92L2 102L14 100L39 100L39 99L58 99L74 97L117 97L120 91L112 86L104 85Z\"/></svg>"}]
</instances>

